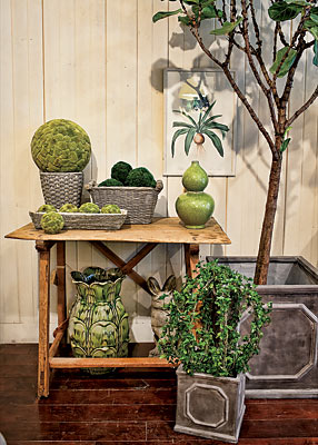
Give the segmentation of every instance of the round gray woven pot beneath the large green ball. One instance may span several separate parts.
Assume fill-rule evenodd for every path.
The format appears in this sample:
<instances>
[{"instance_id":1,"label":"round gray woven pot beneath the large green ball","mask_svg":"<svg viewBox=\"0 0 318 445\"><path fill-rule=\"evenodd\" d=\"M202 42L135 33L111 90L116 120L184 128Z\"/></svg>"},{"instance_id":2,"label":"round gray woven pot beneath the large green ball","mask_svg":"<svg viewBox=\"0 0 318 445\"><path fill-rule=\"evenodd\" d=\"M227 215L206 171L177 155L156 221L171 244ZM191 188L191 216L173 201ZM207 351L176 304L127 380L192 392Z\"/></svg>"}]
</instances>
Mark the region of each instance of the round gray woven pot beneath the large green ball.
<instances>
[{"instance_id":1,"label":"round gray woven pot beneath the large green ball","mask_svg":"<svg viewBox=\"0 0 318 445\"><path fill-rule=\"evenodd\" d=\"M44 202L57 209L63 204L79 207L81 201L83 172L43 172L40 171Z\"/></svg>"}]
</instances>

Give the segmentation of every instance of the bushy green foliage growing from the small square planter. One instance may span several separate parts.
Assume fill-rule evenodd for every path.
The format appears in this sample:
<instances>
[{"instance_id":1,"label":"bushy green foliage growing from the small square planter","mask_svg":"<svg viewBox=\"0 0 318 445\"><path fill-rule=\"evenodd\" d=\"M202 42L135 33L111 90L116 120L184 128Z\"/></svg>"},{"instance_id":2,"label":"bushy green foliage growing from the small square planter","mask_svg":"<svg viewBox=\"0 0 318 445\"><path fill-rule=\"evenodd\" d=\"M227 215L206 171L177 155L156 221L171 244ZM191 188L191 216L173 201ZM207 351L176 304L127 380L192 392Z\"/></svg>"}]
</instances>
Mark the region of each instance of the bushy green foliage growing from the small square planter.
<instances>
[{"instance_id":1,"label":"bushy green foliage growing from the small square planter","mask_svg":"<svg viewBox=\"0 0 318 445\"><path fill-rule=\"evenodd\" d=\"M271 304L262 304L251 279L217 261L198 264L197 273L166 306L170 316L159 350L190 375L236 377L259 352ZM247 314L249 333L241 335L240 320Z\"/></svg>"}]
</instances>

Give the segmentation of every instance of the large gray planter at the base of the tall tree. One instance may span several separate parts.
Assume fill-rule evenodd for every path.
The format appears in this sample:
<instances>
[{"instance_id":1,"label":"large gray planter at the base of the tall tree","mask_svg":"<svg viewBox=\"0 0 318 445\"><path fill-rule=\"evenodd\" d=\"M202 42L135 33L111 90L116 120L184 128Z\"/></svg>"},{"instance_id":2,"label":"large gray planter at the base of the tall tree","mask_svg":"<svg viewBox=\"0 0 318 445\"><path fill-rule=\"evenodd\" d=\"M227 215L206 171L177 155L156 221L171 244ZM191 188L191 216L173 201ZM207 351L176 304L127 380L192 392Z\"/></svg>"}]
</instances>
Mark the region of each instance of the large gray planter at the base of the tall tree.
<instances>
[{"instance_id":1,"label":"large gray planter at the base of the tall tree","mask_svg":"<svg viewBox=\"0 0 318 445\"><path fill-rule=\"evenodd\" d=\"M256 259L221 257L219 264L252 277ZM302 257L272 257L268 285L258 286L257 290L265 303L272 301L274 310L271 324L265 328L260 354L249 363L246 396L318 397L318 270ZM246 316L242 333L248 325Z\"/></svg>"}]
</instances>

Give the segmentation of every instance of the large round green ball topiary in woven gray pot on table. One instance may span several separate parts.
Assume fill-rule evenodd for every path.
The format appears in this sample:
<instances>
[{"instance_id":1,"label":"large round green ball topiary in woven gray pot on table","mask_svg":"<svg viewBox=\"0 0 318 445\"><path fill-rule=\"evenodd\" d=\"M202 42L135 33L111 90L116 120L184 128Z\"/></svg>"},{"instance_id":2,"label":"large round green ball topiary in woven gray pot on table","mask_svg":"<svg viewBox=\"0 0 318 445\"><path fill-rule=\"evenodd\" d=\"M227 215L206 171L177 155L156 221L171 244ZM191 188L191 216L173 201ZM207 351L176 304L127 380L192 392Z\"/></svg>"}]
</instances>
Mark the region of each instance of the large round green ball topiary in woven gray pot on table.
<instances>
[{"instance_id":1,"label":"large round green ball topiary in woven gray pot on table","mask_svg":"<svg viewBox=\"0 0 318 445\"><path fill-rule=\"evenodd\" d=\"M82 170L91 156L87 132L76 122L53 119L37 129L31 140L33 161L40 170L44 201L56 208L80 206Z\"/></svg>"}]
</instances>

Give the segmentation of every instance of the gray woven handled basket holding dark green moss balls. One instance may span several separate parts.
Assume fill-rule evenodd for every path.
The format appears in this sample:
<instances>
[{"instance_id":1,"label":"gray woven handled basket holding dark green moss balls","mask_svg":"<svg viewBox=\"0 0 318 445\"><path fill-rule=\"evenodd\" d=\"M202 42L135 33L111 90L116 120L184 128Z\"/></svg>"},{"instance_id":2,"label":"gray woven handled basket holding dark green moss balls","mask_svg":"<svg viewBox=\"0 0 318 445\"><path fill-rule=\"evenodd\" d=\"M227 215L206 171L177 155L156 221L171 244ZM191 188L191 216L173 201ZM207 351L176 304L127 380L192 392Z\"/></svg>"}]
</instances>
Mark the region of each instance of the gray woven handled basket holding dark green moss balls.
<instances>
[{"instance_id":1,"label":"gray woven handled basket holding dark green moss balls","mask_svg":"<svg viewBox=\"0 0 318 445\"><path fill-rule=\"evenodd\" d=\"M126 224L150 224L163 184L158 180L156 188L97 187L96 181L90 181L85 188L90 192L92 201L99 207L117 204L120 208L127 209Z\"/></svg>"}]
</instances>

